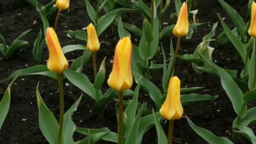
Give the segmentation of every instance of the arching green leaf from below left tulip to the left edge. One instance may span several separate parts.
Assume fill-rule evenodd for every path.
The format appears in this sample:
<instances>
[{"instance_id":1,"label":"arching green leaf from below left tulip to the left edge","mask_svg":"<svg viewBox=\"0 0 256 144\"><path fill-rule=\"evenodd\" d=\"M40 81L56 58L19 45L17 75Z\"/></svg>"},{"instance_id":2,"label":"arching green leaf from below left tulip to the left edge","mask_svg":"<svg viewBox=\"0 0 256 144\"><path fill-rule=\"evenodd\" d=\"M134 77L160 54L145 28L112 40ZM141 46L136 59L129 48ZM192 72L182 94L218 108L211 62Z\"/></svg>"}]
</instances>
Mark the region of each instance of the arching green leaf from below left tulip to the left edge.
<instances>
[{"instance_id":1,"label":"arching green leaf from below left tulip to the left edge","mask_svg":"<svg viewBox=\"0 0 256 144\"><path fill-rule=\"evenodd\" d=\"M27 76L27 75L45 75L45 76L51 77L55 81L58 80L58 75L55 72L49 71L46 65L36 65L36 66L28 67L25 69L19 69L13 72L8 77L4 78L3 80L0 80L0 83L6 82L8 80L12 80L17 75L19 75L19 77Z\"/></svg>"}]
</instances>

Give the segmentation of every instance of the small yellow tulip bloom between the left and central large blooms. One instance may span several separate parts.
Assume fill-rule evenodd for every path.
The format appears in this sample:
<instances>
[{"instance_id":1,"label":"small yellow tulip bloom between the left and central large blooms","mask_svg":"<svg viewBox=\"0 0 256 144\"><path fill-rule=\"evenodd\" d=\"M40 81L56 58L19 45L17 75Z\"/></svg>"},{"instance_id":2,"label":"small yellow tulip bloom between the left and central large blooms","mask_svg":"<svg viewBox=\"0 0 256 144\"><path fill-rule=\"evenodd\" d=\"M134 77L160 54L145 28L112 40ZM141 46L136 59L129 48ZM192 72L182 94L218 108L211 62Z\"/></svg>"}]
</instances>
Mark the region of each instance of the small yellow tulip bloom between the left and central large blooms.
<instances>
[{"instance_id":1,"label":"small yellow tulip bloom between the left and central large blooms","mask_svg":"<svg viewBox=\"0 0 256 144\"><path fill-rule=\"evenodd\" d=\"M93 27L93 24L89 24L87 27L87 35L88 35L88 40L87 40L87 50L95 52L99 50L99 40L97 37L97 33L95 28Z\"/></svg>"}]
</instances>

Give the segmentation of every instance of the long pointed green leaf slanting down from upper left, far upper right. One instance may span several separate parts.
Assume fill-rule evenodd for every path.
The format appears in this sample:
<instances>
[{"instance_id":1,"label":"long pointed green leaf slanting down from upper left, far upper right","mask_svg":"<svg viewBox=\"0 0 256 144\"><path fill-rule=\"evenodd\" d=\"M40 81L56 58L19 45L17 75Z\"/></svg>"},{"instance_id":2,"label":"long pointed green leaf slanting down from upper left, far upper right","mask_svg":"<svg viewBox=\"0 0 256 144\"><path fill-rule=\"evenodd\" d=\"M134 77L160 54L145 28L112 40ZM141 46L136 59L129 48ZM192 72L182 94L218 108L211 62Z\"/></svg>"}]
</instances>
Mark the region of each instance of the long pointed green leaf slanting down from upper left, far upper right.
<instances>
[{"instance_id":1,"label":"long pointed green leaf slanting down from upper left, far upper right","mask_svg":"<svg viewBox=\"0 0 256 144\"><path fill-rule=\"evenodd\" d=\"M221 1L221 0L219 0ZM218 14L219 16L219 14ZM235 46L237 52L240 54L243 63L245 63L246 61L246 51L245 51L245 46L243 45L243 43L234 35L234 33L229 29L229 27L227 27L227 24L222 20L221 16L219 16L219 20L221 21L221 25L224 29L224 31L226 32L227 37L229 38L229 40L231 41L231 43ZM238 30L238 29L237 29Z\"/></svg>"}]
</instances>

